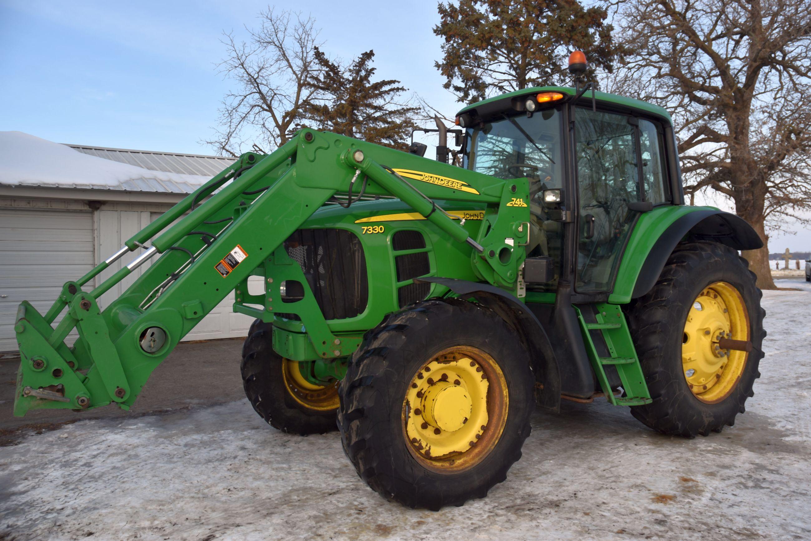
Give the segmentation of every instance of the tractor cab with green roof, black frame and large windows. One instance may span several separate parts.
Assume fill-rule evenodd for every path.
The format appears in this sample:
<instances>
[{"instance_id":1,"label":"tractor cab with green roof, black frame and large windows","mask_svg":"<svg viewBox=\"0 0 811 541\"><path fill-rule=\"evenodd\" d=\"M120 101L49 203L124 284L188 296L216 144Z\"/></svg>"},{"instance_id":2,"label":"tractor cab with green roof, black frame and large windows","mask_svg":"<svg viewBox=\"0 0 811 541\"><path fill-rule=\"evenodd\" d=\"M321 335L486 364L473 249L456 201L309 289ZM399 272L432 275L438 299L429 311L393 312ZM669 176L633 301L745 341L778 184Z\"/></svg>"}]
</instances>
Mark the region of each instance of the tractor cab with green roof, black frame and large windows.
<instances>
[{"instance_id":1,"label":"tractor cab with green roof, black frame and large windows","mask_svg":"<svg viewBox=\"0 0 811 541\"><path fill-rule=\"evenodd\" d=\"M577 88L511 92L462 109L462 166L530 182L528 256L551 258L554 290L564 259L564 223L577 224L575 291L610 292L620 254L641 213L680 204L672 123L664 109Z\"/></svg>"}]
</instances>

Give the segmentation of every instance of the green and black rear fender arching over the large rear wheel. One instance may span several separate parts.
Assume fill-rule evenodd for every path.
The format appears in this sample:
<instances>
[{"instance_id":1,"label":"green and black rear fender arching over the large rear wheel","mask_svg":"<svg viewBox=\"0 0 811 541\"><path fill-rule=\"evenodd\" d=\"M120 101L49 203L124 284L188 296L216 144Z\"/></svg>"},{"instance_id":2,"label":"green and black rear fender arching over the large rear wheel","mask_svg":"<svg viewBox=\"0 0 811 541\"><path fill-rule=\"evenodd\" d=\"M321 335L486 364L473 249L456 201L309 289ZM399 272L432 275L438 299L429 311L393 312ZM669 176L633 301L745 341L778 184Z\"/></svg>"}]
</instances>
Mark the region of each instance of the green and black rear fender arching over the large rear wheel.
<instances>
[{"instance_id":1,"label":"green and black rear fender arching over the large rear wheel","mask_svg":"<svg viewBox=\"0 0 811 541\"><path fill-rule=\"evenodd\" d=\"M718 208L687 205L655 208L643 213L633 228L608 302L629 303L650 291L676 245L685 237L736 250L763 246L751 225Z\"/></svg>"}]
</instances>

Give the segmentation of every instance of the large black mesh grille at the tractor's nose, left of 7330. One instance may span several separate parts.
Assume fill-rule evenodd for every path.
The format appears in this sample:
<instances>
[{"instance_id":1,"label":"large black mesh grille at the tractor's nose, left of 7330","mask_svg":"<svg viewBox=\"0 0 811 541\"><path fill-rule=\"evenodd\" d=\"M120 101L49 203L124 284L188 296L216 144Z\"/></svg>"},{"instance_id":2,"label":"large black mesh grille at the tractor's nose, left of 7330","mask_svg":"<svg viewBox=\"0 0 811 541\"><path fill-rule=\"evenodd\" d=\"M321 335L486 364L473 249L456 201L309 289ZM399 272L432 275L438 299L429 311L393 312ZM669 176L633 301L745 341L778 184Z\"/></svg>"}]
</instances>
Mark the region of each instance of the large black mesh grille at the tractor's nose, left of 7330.
<instances>
[{"instance_id":1,"label":"large black mesh grille at the tractor's nose, left of 7330","mask_svg":"<svg viewBox=\"0 0 811 541\"><path fill-rule=\"evenodd\" d=\"M324 319L344 320L366 309L369 283L366 256L351 231L298 230L285 241L290 259L301 265ZM292 314L277 314L298 320Z\"/></svg>"}]
</instances>

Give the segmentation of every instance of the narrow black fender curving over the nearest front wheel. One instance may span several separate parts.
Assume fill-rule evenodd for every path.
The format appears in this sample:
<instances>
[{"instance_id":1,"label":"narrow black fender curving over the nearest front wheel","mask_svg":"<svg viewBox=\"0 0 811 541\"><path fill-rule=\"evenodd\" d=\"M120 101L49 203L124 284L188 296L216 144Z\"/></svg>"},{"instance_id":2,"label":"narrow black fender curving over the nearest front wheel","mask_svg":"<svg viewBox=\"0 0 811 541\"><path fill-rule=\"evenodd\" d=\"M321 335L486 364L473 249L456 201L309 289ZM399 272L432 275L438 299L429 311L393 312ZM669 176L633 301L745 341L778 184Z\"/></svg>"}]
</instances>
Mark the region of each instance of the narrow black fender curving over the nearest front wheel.
<instances>
[{"instance_id":1,"label":"narrow black fender curving over the nearest front wheel","mask_svg":"<svg viewBox=\"0 0 811 541\"><path fill-rule=\"evenodd\" d=\"M414 281L426 281L445 286L461 298L475 298L478 303L495 311L521 336L530 352L532 370L535 373L535 398L538 405L552 411L560 410L560 369L555 351L537 317L518 298L506 291L473 281L453 278L423 277Z\"/></svg>"}]
</instances>

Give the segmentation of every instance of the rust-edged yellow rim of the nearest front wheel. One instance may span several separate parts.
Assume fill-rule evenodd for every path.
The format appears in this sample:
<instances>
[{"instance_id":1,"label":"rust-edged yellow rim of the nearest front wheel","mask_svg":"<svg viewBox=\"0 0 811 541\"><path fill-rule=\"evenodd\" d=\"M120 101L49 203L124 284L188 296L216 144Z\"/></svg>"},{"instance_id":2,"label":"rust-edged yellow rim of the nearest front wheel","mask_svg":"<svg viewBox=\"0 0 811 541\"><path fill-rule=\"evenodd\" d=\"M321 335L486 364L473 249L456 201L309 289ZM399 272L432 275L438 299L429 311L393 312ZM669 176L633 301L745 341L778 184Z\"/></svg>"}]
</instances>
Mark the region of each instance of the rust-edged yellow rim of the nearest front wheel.
<instances>
[{"instance_id":1,"label":"rust-edged yellow rim of the nearest front wheel","mask_svg":"<svg viewBox=\"0 0 811 541\"><path fill-rule=\"evenodd\" d=\"M496 446L508 410L496 361L472 346L441 351L410 381L402 419L409 450L432 470L466 470Z\"/></svg>"}]
</instances>

